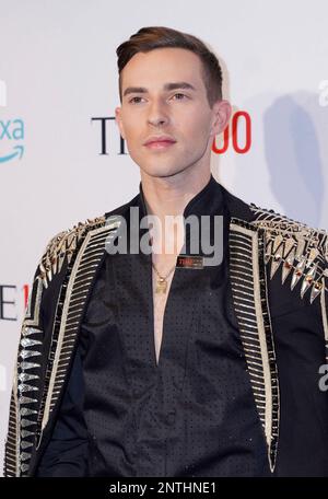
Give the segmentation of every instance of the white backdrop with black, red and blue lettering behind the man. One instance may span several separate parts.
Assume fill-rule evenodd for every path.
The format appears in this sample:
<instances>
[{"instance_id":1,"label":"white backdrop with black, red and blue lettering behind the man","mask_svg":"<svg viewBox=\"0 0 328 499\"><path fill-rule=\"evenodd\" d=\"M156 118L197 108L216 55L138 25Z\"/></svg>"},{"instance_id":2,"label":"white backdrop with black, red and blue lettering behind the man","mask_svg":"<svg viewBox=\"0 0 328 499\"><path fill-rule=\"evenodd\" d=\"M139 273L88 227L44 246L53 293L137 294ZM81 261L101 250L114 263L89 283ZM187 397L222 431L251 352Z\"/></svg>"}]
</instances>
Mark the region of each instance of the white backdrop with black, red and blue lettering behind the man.
<instances>
[{"instance_id":1,"label":"white backdrop with black, red and blue lettering behind the man","mask_svg":"<svg viewBox=\"0 0 328 499\"><path fill-rule=\"evenodd\" d=\"M233 105L212 173L247 202L328 228L325 0L0 0L0 463L21 322L48 240L129 201L116 47L142 26L200 37Z\"/></svg>"}]
</instances>

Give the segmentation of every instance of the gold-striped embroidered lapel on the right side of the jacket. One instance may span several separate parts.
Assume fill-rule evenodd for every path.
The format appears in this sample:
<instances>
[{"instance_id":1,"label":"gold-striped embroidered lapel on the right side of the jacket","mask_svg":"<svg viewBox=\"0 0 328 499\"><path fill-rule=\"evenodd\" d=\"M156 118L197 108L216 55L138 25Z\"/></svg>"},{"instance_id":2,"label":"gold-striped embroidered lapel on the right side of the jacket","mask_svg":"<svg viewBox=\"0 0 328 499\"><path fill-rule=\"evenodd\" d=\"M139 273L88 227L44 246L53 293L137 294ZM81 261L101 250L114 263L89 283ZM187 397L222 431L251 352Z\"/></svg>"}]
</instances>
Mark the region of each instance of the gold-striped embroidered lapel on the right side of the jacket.
<instances>
[{"instance_id":1,"label":"gold-striped embroidered lapel on the right side of the jacket","mask_svg":"<svg viewBox=\"0 0 328 499\"><path fill-rule=\"evenodd\" d=\"M247 371L274 469L279 433L279 383L265 266L265 231L231 218L230 277Z\"/></svg>"}]
</instances>

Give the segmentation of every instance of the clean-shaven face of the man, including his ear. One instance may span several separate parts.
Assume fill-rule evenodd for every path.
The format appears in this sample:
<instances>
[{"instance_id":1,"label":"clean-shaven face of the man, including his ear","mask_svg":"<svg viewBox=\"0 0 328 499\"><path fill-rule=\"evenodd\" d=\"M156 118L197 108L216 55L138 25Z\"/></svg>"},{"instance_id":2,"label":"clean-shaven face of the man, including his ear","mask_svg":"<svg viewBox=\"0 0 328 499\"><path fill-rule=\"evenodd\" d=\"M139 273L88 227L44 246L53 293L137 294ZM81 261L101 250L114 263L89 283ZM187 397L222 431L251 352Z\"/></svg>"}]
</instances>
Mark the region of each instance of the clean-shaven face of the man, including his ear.
<instances>
[{"instance_id":1,"label":"clean-shaven face of the man, including his ear","mask_svg":"<svg viewBox=\"0 0 328 499\"><path fill-rule=\"evenodd\" d=\"M138 53L124 68L116 121L141 174L166 177L209 163L213 137L229 121L230 104L222 101L210 108L201 68L199 57L181 48ZM195 90L165 89L177 82ZM145 146L152 136L169 136L175 142Z\"/></svg>"}]
</instances>

